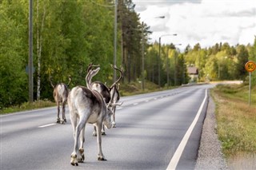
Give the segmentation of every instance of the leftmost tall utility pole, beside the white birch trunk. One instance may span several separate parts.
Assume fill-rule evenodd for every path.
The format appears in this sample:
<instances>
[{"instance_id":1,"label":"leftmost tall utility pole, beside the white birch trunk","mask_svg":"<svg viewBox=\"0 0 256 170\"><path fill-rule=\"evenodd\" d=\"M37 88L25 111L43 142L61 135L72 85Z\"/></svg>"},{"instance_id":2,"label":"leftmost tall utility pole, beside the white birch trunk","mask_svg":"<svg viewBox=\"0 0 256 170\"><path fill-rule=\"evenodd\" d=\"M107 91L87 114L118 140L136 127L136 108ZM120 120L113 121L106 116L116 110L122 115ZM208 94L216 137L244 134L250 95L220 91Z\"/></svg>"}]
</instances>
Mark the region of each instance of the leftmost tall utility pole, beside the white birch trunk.
<instances>
[{"instance_id":1,"label":"leftmost tall utility pole, beside the white birch trunk","mask_svg":"<svg viewBox=\"0 0 256 170\"><path fill-rule=\"evenodd\" d=\"M29 101L32 103L33 99L33 0L30 0L29 5Z\"/></svg>"}]
</instances>

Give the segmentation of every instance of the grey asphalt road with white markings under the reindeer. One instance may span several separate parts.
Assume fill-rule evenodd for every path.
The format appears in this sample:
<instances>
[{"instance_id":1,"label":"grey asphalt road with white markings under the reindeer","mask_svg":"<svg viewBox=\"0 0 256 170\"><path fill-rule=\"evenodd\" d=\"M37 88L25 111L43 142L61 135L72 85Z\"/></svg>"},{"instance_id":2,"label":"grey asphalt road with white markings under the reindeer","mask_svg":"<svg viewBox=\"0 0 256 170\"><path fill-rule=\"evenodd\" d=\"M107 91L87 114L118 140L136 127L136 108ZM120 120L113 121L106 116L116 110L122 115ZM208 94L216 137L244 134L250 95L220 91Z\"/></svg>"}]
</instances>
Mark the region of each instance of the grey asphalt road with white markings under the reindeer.
<instances>
[{"instance_id":1,"label":"grey asphalt road with white markings under the reindeer","mask_svg":"<svg viewBox=\"0 0 256 170\"><path fill-rule=\"evenodd\" d=\"M56 124L57 109L0 116L0 169L194 169L211 85L121 97L117 128L102 136L98 161L93 125L86 125L86 161L70 165L73 129Z\"/></svg>"}]
</instances>

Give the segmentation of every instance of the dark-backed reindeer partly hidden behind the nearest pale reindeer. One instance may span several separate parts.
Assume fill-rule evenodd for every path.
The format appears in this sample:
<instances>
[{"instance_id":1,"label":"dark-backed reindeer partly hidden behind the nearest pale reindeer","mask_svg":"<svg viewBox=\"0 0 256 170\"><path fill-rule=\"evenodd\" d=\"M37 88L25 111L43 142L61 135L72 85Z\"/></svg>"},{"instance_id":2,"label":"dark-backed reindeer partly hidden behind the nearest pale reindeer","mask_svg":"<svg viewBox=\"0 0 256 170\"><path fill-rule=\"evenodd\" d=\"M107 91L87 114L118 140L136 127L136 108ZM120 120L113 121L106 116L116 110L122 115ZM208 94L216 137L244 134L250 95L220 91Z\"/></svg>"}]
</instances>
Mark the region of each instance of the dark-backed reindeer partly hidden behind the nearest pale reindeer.
<instances>
[{"instance_id":1,"label":"dark-backed reindeer partly hidden behind the nearest pale reindeer","mask_svg":"<svg viewBox=\"0 0 256 170\"><path fill-rule=\"evenodd\" d=\"M87 72L90 69L92 69L93 66L98 66L98 65L90 64L88 66ZM117 69L121 73L121 76L118 78L118 81L120 81L123 76L122 70L118 69L116 66L113 66L113 65L111 65L111 67L113 69ZM118 81L115 81L114 84L110 86L110 88L108 88L101 81L94 81L93 83L90 82L90 84L91 84L92 89L94 89L94 90L98 91L98 93L102 94L102 97L104 98L106 103L113 102L113 101L114 101L114 103L118 103L118 101L120 99L120 95L118 93L118 86L116 85L118 83ZM113 113L115 113L115 108L116 108L116 106L111 107ZM116 125L115 125L114 114L113 114L113 119L114 119L114 122L112 122L112 124L114 125L113 127L115 128ZM102 126L102 135L106 135L104 126ZM94 127L93 136L97 136L96 127Z\"/></svg>"}]
</instances>

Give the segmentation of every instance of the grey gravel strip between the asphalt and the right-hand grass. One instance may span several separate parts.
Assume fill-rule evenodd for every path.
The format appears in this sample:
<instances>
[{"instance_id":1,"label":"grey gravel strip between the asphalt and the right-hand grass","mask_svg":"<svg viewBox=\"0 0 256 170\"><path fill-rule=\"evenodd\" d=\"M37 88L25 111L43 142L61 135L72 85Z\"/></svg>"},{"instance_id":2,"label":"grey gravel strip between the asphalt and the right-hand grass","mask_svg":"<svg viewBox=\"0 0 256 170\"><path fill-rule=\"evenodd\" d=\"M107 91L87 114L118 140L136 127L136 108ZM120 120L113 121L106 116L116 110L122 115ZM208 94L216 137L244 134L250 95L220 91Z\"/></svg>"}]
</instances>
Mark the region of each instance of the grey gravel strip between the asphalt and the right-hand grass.
<instances>
[{"instance_id":1,"label":"grey gravel strip between the asphalt and the right-hand grass","mask_svg":"<svg viewBox=\"0 0 256 170\"><path fill-rule=\"evenodd\" d=\"M206 118L202 127L202 136L195 169L229 169L222 154L222 144L216 133L215 104L209 97Z\"/></svg>"}]
</instances>

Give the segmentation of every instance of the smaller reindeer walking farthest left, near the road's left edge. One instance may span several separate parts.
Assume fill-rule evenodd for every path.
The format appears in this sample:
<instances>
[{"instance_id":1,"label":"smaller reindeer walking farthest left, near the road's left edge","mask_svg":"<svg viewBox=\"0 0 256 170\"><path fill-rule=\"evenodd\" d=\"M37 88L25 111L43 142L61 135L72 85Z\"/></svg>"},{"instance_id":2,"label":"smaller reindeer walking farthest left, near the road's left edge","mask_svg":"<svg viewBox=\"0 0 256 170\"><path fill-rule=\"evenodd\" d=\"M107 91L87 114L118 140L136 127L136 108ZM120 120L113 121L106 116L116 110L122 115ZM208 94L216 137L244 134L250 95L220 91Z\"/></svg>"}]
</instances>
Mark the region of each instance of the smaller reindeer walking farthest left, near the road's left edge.
<instances>
[{"instance_id":1,"label":"smaller reindeer walking farthest left, near the road's left edge","mask_svg":"<svg viewBox=\"0 0 256 170\"><path fill-rule=\"evenodd\" d=\"M52 82L52 77L50 77L50 85L54 88L54 101L57 104L58 109L58 115L57 115L57 123L64 124L66 122L66 116L65 116L65 107L66 107L66 101L69 93L68 86L71 82L71 77L69 76L69 83L66 85L64 83L59 83L57 85L54 85ZM62 104L62 120L59 118L60 113L60 105Z\"/></svg>"}]
</instances>

